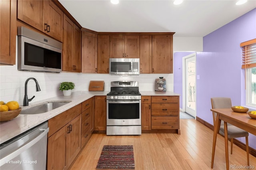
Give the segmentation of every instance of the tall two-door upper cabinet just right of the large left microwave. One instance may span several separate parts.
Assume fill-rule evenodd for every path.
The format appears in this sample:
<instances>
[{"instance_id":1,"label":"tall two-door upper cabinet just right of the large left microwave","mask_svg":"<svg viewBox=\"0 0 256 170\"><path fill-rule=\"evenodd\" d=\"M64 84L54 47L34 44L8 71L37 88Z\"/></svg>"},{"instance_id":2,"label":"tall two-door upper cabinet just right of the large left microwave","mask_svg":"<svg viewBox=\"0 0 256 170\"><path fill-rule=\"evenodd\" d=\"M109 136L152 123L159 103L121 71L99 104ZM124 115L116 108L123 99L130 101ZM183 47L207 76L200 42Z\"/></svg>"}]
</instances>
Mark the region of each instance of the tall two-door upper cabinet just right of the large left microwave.
<instances>
[{"instance_id":1,"label":"tall two-door upper cabinet just right of the large left microwave","mask_svg":"<svg viewBox=\"0 0 256 170\"><path fill-rule=\"evenodd\" d=\"M81 72L81 30L64 15L62 70Z\"/></svg>"}]
</instances>

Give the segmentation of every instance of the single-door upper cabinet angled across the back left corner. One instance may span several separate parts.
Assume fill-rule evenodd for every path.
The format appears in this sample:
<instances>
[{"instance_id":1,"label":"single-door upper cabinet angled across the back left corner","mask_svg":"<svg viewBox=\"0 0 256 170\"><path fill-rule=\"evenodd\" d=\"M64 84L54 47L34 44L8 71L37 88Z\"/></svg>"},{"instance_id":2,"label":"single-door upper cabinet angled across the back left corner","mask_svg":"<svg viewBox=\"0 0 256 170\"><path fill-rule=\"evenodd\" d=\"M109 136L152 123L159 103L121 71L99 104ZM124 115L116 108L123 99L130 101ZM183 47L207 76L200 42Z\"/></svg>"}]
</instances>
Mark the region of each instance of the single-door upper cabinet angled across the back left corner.
<instances>
[{"instance_id":1,"label":"single-door upper cabinet angled across the back left corner","mask_svg":"<svg viewBox=\"0 0 256 170\"><path fill-rule=\"evenodd\" d=\"M82 73L97 73L97 35L82 32Z\"/></svg>"}]
</instances>

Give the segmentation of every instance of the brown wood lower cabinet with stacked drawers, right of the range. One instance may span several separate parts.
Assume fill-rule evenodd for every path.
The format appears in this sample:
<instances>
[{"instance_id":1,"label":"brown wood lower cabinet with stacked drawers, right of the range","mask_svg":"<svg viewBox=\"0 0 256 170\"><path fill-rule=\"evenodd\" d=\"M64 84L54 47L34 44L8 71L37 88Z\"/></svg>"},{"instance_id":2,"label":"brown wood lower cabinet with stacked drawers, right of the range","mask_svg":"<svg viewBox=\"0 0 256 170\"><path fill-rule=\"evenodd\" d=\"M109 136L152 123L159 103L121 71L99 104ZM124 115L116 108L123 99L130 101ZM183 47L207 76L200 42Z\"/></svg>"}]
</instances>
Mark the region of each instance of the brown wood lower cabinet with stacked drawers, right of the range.
<instances>
[{"instance_id":1,"label":"brown wood lower cabinet with stacked drawers, right of the range","mask_svg":"<svg viewBox=\"0 0 256 170\"><path fill-rule=\"evenodd\" d=\"M142 96L141 103L142 132L180 134L179 96Z\"/></svg>"}]
</instances>

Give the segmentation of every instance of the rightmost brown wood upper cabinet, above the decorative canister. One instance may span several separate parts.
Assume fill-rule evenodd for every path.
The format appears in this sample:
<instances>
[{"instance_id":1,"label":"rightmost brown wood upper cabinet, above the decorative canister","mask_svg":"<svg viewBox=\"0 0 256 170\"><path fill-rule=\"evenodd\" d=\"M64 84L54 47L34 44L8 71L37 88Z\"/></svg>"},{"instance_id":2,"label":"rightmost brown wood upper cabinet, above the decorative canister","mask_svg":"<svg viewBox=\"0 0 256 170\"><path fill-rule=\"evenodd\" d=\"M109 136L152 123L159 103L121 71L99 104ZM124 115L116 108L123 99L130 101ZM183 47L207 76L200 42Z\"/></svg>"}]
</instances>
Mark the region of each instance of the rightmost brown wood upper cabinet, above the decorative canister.
<instances>
[{"instance_id":1,"label":"rightmost brown wood upper cabinet, above the decorative canister","mask_svg":"<svg viewBox=\"0 0 256 170\"><path fill-rule=\"evenodd\" d=\"M172 73L172 35L152 36L152 73Z\"/></svg>"}]
</instances>

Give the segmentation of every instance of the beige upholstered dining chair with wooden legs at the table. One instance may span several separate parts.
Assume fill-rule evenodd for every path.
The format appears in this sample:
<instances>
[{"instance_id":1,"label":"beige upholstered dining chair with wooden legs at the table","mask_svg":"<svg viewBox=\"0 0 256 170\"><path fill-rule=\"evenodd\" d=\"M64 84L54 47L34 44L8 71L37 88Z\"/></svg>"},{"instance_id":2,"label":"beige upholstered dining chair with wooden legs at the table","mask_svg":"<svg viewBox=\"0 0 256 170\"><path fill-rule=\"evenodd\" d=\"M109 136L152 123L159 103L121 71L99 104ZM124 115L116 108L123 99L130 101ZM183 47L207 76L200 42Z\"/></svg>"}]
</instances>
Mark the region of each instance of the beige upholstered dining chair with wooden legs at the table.
<instances>
[{"instance_id":1,"label":"beige upholstered dining chair with wooden legs at the table","mask_svg":"<svg viewBox=\"0 0 256 170\"><path fill-rule=\"evenodd\" d=\"M211 102L212 102L212 109L228 109L228 108L231 108L231 106L232 106L231 99L228 98L228 97L212 97ZM212 116L213 116L213 124L215 126L216 113L212 112ZM245 130L242 130L242 129L240 129L240 128L234 126L234 125L231 125L229 123L227 123L227 125L228 125L228 138L230 138L230 142L231 142L231 151L230 151L230 153L232 154L232 150L233 150L233 139L234 138L245 137L246 153L247 153L247 165L249 166L249 146L248 146L249 133L246 132ZM221 135L225 136L224 122L223 121L221 121L219 133Z\"/></svg>"}]
</instances>

